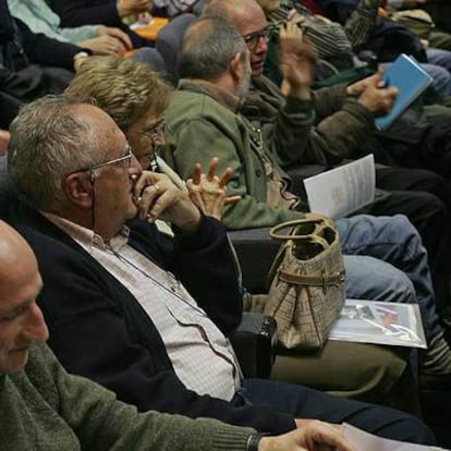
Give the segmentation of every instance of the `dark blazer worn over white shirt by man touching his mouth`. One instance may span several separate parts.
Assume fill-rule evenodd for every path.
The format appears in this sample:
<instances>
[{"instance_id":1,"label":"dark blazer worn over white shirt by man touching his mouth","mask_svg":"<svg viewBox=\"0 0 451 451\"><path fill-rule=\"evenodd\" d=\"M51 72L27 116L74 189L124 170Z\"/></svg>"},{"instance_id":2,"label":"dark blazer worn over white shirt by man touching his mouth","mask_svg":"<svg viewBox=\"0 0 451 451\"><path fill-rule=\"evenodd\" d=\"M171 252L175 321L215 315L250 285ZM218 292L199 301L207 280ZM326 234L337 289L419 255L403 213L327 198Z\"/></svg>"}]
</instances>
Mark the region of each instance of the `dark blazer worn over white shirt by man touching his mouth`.
<instances>
[{"instance_id":1,"label":"dark blazer worn over white shirt by man touching his mouth","mask_svg":"<svg viewBox=\"0 0 451 451\"><path fill-rule=\"evenodd\" d=\"M33 229L16 227L39 263L44 290L38 302L49 325L49 344L69 371L110 388L141 411L214 417L273 434L295 427L292 417L270 406L187 390L155 325L130 291L39 214L28 211L25 222ZM130 244L176 275L224 334L236 327L241 294L222 224L204 218L194 235L176 233L174 240L144 221L130 226Z\"/></svg>"}]
</instances>

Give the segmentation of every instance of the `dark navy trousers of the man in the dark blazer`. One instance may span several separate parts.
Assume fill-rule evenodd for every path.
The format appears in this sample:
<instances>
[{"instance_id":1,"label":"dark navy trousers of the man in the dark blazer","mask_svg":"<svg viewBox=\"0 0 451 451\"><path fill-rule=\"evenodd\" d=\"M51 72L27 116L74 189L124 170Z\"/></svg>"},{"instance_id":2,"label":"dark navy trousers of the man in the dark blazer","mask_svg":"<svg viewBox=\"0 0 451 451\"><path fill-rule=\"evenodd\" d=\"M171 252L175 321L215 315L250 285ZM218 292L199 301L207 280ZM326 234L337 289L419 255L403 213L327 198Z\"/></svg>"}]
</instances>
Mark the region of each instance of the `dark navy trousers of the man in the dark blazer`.
<instances>
[{"instance_id":1,"label":"dark navy trousers of the man in the dark blazer","mask_svg":"<svg viewBox=\"0 0 451 451\"><path fill-rule=\"evenodd\" d=\"M245 379L233 403L266 404L294 418L316 418L329 423L346 422L386 438L414 443L435 443L434 435L415 416L380 405L336 398L293 383Z\"/></svg>"}]
</instances>

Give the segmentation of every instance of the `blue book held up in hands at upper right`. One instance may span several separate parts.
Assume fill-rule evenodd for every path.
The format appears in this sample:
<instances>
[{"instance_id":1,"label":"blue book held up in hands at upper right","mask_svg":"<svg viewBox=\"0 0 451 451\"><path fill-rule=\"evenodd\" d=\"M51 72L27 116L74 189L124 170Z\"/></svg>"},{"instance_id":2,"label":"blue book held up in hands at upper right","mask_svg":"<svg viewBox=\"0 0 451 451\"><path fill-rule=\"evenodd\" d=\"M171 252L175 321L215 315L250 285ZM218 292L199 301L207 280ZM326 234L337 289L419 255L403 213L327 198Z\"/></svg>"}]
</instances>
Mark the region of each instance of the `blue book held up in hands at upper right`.
<instances>
[{"instance_id":1,"label":"blue book held up in hands at upper right","mask_svg":"<svg viewBox=\"0 0 451 451\"><path fill-rule=\"evenodd\" d=\"M399 93L391 110L376 119L379 130L389 127L430 85L432 78L413 58L402 53L385 71L382 81L386 86L395 86Z\"/></svg>"}]
</instances>

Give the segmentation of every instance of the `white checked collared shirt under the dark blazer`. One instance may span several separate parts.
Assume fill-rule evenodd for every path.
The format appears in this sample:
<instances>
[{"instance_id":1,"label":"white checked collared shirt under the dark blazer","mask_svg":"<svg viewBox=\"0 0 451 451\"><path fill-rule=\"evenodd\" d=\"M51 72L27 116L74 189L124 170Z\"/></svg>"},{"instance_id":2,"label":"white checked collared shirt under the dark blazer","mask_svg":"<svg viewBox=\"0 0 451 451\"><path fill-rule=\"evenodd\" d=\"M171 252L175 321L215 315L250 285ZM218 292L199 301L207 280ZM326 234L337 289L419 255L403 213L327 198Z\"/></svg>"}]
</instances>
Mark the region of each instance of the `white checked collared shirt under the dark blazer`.
<instances>
[{"instance_id":1,"label":"white checked collared shirt under the dark blazer","mask_svg":"<svg viewBox=\"0 0 451 451\"><path fill-rule=\"evenodd\" d=\"M233 398L241 380L229 341L172 273L127 244L126 227L107 244L93 230L44 215L135 296L157 327L186 388L227 401Z\"/></svg>"}]
</instances>

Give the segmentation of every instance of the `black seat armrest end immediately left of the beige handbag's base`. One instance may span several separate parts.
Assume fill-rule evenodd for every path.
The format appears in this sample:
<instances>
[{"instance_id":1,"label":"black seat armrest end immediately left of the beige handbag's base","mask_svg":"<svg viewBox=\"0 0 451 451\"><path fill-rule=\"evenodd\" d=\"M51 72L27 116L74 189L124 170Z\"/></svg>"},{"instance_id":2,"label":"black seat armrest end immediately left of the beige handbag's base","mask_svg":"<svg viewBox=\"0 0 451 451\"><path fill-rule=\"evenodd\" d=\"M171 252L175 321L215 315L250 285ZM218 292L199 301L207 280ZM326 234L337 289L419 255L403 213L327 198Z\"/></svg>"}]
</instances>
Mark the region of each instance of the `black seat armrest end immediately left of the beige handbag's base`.
<instances>
[{"instance_id":1,"label":"black seat armrest end immediately left of the beige handbag's base","mask_svg":"<svg viewBox=\"0 0 451 451\"><path fill-rule=\"evenodd\" d=\"M270 316L246 312L230 336L245 378L268 378L275 361L277 324Z\"/></svg>"}]
</instances>

